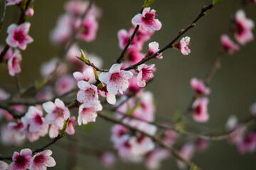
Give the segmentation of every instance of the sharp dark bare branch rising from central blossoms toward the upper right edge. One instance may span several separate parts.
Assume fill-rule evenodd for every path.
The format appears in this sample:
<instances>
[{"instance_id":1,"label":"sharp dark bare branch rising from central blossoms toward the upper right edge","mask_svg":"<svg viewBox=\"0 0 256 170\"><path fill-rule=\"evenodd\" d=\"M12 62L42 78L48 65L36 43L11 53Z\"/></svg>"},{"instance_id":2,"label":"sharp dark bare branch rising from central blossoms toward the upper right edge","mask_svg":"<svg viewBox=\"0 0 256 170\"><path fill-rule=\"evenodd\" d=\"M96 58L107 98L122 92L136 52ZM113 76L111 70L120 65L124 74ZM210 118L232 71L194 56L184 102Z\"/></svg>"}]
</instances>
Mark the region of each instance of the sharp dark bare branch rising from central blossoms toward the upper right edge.
<instances>
[{"instance_id":1,"label":"sharp dark bare branch rising from central blossoms toward the upper right edge","mask_svg":"<svg viewBox=\"0 0 256 170\"><path fill-rule=\"evenodd\" d=\"M130 69L135 69L136 67L138 67L141 64L144 64L145 62L153 59L154 57L156 57L157 55L159 55L161 52L164 52L165 50L172 48L174 45L174 42L176 42L176 40L178 40L178 38L181 38L181 35L183 35L184 33L186 33L188 30L190 30L191 28L193 28L194 26L196 26L196 22L203 16L206 15L206 11L208 11L209 9L213 8L213 4L209 4L208 6L203 6L203 8L201 8L201 13L199 13L199 15L196 17L196 19L194 19L194 21L188 25L184 30L181 30L178 35L176 36L176 38L174 38L174 40L171 40L171 42L166 45L164 48L162 48L161 50L159 50L158 52L154 53L154 55L151 55L149 57L146 57L144 59L142 59L140 62L137 62L137 64L134 64L130 67L125 68L124 70L130 70Z\"/></svg>"}]
</instances>

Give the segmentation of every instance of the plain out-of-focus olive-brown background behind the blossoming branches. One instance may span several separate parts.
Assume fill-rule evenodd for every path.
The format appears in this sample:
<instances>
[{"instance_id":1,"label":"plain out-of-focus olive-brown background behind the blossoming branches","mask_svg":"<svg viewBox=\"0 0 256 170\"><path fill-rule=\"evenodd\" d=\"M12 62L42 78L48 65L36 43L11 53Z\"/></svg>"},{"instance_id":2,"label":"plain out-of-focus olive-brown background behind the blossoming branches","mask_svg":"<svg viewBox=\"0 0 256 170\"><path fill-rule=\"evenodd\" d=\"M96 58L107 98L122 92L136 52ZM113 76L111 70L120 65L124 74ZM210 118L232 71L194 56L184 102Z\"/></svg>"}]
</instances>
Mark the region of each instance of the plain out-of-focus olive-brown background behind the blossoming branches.
<instances>
[{"instance_id":1,"label":"plain out-of-focus olive-brown background behind the blossoming branches","mask_svg":"<svg viewBox=\"0 0 256 170\"><path fill-rule=\"evenodd\" d=\"M59 47L50 44L49 33L55 27L60 14L64 13L65 1L35 1L35 15L29 19L31 22L30 35L34 42L22 51L22 71L20 74L22 86L31 84L35 79L41 78L39 67L50 58L58 56ZM151 5L157 11L157 18L162 28L151 37L151 41L159 42L160 48L172 40L179 30L186 28L201 10L208 5L206 0L156 0ZM103 15L99 21L99 30L94 42L79 42L80 47L90 53L102 57L104 68L109 68L122 50L119 50L117 31L131 28L131 19L137 14L144 0L99 1L95 4L102 8ZM203 79L213 64L220 48L220 35L228 32L230 16L240 8L239 0L225 0L207 12L196 27L189 30L186 35L191 37L191 54L184 56L178 50L166 50L163 60L151 60L156 64L157 72L146 90L152 91L156 103L156 120L171 120L177 112L182 112L188 106L193 95L189 81L193 77ZM256 21L256 4L248 4L245 12L248 18ZM1 9L2 10L2 9ZM0 32L0 44L5 44L6 29L16 22L18 9L16 6L6 8L4 28ZM254 30L255 33L255 30ZM148 50L147 43L144 52ZM250 106L256 101L256 41L249 42L241 47L235 55L224 55L221 68L213 77L210 84L212 93L208 106L210 120L208 123L194 123L191 115L186 116L186 123L193 126L191 131L200 132L218 129L225 125L229 115L237 115L240 120L250 116ZM0 86L10 94L16 91L15 78L10 77L6 66L0 64ZM96 123L83 125L80 132L73 137L52 145L53 157L57 165L52 169L104 169L97 157L86 149L80 149L78 157L72 157L73 147L82 146L89 149L112 149L110 142L110 127L112 123L97 118ZM84 131L82 131L84 130ZM67 140L70 138L71 140ZM77 142L75 142L77 140ZM41 147L50 141L43 137L33 144L27 142L23 147L6 147L0 144L0 153L11 156L14 151L22 148ZM71 156L70 156L71 155ZM256 169L256 153L240 155L234 145L226 141L210 142L206 152L196 154L193 162L202 169ZM76 163L77 162L77 163ZM118 162L113 169L145 169L143 164L128 164ZM174 157L162 163L161 169L178 169Z\"/></svg>"}]
</instances>

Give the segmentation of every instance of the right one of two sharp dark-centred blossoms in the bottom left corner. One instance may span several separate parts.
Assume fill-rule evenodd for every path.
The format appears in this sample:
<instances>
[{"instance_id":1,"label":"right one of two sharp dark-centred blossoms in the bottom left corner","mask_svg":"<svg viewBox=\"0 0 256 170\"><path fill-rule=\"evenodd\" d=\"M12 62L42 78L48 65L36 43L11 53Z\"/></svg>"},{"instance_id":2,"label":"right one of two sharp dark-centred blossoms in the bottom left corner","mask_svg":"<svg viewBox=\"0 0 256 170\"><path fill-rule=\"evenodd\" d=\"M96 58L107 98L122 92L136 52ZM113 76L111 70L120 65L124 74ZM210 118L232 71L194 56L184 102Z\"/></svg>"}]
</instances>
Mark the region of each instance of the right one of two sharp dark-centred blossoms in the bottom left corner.
<instances>
[{"instance_id":1,"label":"right one of two sharp dark-centred blossoms in the bottom left corner","mask_svg":"<svg viewBox=\"0 0 256 170\"><path fill-rule=\"evenodd\" d=\"M35 154L30 160L30 170L46 169L47 167L53 167L56 165L55 160L50 155L53 152L49 149Z\"/></svg>"}]
</instances>

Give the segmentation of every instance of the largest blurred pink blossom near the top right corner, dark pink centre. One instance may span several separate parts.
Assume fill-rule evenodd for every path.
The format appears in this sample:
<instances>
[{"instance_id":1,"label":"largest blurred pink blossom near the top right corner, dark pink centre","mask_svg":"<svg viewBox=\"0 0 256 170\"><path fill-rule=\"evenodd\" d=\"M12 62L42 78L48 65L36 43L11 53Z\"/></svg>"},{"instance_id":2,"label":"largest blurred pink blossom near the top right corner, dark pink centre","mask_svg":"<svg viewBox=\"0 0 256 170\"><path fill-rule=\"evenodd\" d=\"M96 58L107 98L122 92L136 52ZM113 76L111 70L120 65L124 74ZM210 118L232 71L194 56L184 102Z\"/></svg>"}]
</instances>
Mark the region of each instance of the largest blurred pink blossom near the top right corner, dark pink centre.
<instances>
[{"instance_id":1,"label":"largest blurred pink blossom near the top right corner, dark pink centre","mask_svg":"<svg viewBox=\"0 0 256 170\"><path fill-rule=\"evenodd\" d=\"M254 28L254 22L246 18L245 11L242 9L238 10L235 13L235 39L241 45L245 45L246 42L254 39L252 28Z\"/></svg>"}]
</instances>

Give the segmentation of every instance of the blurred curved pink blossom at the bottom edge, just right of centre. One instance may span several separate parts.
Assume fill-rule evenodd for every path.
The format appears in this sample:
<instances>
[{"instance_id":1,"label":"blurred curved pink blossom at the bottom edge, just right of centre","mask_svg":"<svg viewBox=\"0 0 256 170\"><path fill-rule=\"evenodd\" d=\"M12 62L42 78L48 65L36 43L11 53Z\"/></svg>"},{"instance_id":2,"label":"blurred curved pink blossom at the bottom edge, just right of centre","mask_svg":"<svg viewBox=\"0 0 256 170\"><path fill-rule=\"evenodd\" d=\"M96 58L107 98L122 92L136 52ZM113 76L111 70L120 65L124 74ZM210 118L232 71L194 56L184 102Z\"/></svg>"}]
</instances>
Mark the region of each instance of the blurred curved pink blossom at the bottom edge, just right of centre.
<instances>
[{"instance_id":1,"label":"blurred curved pink blossom at the bottom edge, just right of centre","mask_svg":"<svg viewBox=\"0 0 256 170\"><path fill-rule=\"evenodd\" d=\"M167 149L154 149L146 154L146 168L151 170L160 169L161 161L168 159L170 156L171 153Z\"/></svg>"}]
</instances>

